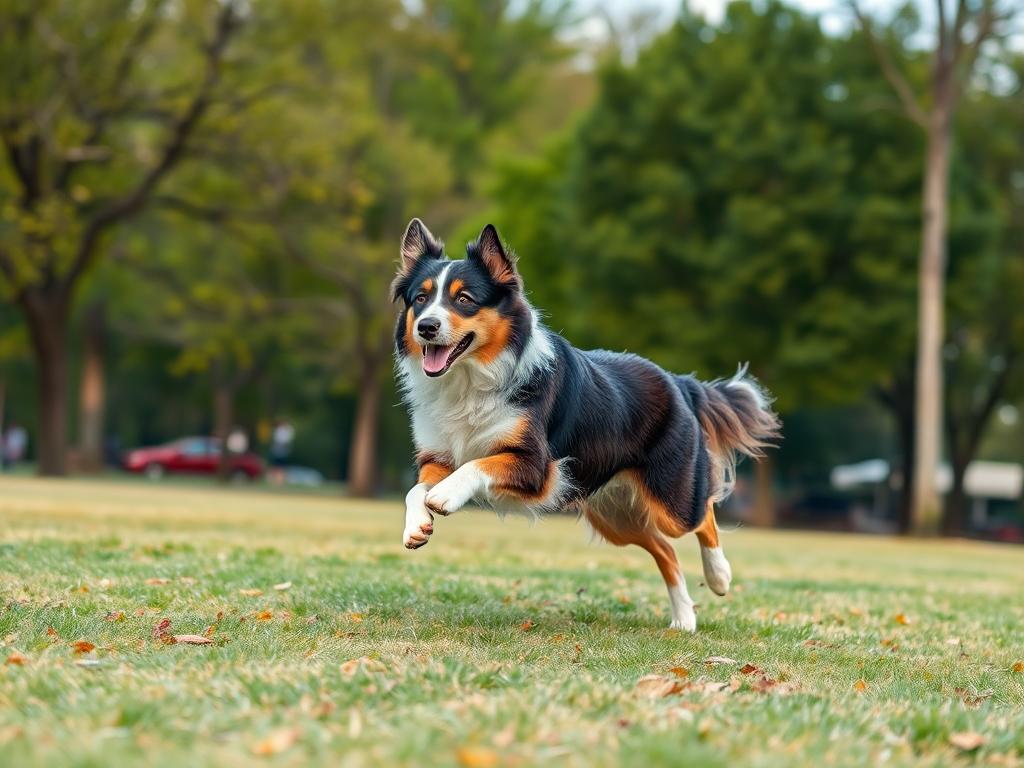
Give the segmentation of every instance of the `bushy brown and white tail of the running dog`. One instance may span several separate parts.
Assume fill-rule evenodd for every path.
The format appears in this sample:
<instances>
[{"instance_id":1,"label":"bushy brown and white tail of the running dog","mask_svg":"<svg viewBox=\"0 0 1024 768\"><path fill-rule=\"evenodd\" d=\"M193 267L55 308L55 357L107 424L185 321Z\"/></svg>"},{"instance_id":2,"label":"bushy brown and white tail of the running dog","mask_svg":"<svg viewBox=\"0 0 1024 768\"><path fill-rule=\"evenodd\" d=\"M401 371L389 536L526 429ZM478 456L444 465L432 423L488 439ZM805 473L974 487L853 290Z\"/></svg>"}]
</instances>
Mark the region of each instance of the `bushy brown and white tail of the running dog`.
<instances>
[{"instance_id":1,"label":"bushy brown and white tail of the running dog","mask_svg":"<svg viewBox=\"0 0 1024 768\"><path fill-rule=\"evenodd\" d=\"M712 457L711 499L721 502L736 482L737 454L759 459L779 438L782 423L771 410L771 397L740 366L731 379L690 380L699 393L692 398ZM702 395L702 396L701 396Z\"/></svg>"}]
</instances>

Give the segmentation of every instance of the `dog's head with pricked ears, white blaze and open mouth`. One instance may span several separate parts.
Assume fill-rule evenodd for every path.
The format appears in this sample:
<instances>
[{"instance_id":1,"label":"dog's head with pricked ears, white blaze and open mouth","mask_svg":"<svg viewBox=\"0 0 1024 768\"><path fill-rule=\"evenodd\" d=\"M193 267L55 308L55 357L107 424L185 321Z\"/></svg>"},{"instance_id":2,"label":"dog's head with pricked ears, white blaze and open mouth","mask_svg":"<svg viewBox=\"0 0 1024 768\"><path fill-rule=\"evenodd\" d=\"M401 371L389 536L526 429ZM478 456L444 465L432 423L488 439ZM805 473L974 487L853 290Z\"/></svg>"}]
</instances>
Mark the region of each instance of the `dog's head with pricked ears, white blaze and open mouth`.
<instances>
[{"instance_id":1,"label":"dog's head with pricked ears, white blaze and open mouth","mask_svg":"<svg viewBox=\"0 0 1024 768\"><path fill-rule=\"evenodd\" d=\"M404 303L395 333L399 356L419 357L423 373L444 376L453 366L487 366L517 344L527 322L515 260L490 224L451 260L419 219L401 239L401 264L391 286Z\"/></svg>"}]
</instances>

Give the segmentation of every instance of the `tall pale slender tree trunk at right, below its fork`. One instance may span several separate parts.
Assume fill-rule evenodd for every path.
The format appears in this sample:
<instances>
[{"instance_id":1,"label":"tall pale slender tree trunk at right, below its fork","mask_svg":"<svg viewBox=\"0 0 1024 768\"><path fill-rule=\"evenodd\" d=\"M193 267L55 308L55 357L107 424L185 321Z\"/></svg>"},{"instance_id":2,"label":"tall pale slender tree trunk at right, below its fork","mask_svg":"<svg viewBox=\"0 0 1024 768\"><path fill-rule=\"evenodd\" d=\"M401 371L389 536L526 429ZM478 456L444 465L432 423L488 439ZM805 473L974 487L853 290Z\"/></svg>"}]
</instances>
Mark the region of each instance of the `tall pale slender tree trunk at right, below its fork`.
<instances>
[{"instance_id":1,"label":"tall pale slender tree trunk at right, below its fork","mask_svg":"<svg viewBox=\"0 0 1024 768\"><path fill-rule=\"evenodd\" d=\"M943 100L942 89L937 99ZM942 455L942 344L951 103L937 103L928 132L918 294L916 424L912 530L939 532L941 509L935 472Z\"/></svg>"}]
</instances>

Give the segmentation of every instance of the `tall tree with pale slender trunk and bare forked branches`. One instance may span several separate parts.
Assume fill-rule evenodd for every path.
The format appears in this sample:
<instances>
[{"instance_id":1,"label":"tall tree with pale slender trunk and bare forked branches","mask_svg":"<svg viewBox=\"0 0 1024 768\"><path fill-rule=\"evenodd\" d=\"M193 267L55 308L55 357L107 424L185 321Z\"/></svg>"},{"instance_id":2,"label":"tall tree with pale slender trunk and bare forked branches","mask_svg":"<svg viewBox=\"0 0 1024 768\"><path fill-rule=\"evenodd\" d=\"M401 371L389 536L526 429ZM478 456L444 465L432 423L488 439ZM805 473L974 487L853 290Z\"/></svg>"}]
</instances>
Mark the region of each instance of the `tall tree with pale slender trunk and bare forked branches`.
<instances>
[{"instance_id":1,"label":"tall tree with pale slender trunk and bare forked branches","mask_svg":"<svg viewBox=\"0 0 1024 768\"><path fill-rule=\"evenodd\" d=\"M949 221L949 164L953 117L959 98L974 75L983 46L998 37L1013 17L1013 5L996 0L957 0L951 19L946 0L935 0L936 29L932 67L926 86L928 104L922 105L914 88L892 59L856 0L850 0L871 44L879 66L898 95L908 119L926 135L922 189L921 256L918 294L918 351L915 370L914 451L912 477L913 530L939 530L940 505L936 468L942 453L942 347L945 340L945 272Z\"/></svg>"}]
</instances>

